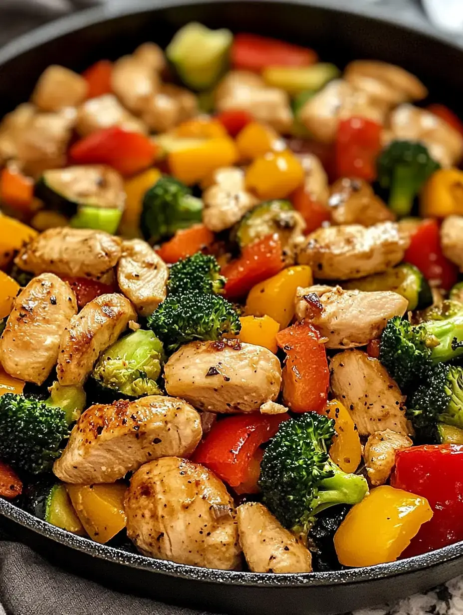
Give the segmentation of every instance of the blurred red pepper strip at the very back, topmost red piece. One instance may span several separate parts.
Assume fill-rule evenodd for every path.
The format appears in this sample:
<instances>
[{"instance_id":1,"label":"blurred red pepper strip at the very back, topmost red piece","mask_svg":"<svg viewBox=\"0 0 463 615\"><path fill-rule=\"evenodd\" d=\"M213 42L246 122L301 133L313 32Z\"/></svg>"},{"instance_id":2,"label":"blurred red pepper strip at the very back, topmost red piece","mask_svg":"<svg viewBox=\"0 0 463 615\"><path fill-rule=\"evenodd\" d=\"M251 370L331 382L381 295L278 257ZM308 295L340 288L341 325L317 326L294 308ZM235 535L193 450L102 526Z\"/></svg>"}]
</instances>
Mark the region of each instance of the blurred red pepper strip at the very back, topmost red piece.
<instances>
[{"instance_id":1,"label":"blurred red pepper strip at the very back, topmost red piece","mask_svg":"<svg viewBox=\"0 0 463 615\"><path fill-rule=\"evenodd\" d=\"M260 72L266 66L310 66L317 60L312 49L258 34L236 34L231 48L233 68L248 71Z\"/></svg>"}]
</instances>

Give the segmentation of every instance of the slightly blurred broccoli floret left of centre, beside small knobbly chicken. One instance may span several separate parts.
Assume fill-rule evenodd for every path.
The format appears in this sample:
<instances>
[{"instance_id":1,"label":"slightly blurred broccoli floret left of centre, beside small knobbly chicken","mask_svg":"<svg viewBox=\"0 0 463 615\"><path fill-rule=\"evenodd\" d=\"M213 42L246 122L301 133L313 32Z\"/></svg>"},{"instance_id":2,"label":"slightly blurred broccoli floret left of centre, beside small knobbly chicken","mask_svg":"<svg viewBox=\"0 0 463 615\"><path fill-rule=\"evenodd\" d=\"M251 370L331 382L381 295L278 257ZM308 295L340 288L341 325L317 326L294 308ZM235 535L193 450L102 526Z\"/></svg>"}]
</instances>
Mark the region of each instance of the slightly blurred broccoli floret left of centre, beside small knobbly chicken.
<instances>
[{"instance_id":1,"label":"slightly blurred broccoli floret left of centre, beside small knobbly chicken","mask_svg":"<svg viewBox=\"0 0 463 615\"><path fill-rule=\"evenodd\" d=\"M201 220L202 200L173 177L160 178L143 197L141 231L151 244Z\"/></svg>"}]
</instances>

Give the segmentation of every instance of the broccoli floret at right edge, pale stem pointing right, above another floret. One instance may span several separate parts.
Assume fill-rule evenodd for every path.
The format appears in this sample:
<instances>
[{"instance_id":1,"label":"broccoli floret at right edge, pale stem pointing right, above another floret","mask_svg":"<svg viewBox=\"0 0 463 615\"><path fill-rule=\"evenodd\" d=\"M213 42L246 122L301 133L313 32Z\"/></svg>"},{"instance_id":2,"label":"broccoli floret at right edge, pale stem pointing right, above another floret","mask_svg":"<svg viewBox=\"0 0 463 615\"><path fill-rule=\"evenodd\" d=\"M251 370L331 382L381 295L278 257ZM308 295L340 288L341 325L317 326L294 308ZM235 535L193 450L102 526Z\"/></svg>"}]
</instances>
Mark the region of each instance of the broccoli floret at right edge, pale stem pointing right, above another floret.
<instances>
[{"instance_id":1,"label":"broccoli floret at right edge, pale stem pointing right, above another floret","mask_svg":"<svg viewBox=\"0 0 463 615\"><path fill-rule=\"evenodd\" d=\"M394 316L382 331L379 360L403 392L416 386L436 363L463 353L463 306L446 319L411 325Z\"/></svg>"}]
</instances>

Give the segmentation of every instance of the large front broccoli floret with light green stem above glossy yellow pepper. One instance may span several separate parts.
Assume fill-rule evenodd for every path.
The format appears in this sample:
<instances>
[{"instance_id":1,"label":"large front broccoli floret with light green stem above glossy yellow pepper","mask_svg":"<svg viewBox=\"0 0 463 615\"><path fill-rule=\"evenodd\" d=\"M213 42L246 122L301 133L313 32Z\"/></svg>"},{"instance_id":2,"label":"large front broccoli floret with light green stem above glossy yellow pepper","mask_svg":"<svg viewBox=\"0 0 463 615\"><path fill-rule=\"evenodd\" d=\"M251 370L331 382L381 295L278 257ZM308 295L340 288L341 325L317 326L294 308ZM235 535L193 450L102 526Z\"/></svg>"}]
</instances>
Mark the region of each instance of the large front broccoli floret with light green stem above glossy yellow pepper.
<instances>
[{"instance_id":1,"label":"large front broccoli floret with light green stem above glossy yellow pepper","mask_svg":"<svg viewBox=\"0 0 463 615\"><path fill-rule=\"evenodd\" d=\"M334 504L357 504L365 478L342 472L328 456L334 421L306 412L280 426L261 462L263 501L287 528L306 534L314 515Z\"/></svg>"}]
</instances>

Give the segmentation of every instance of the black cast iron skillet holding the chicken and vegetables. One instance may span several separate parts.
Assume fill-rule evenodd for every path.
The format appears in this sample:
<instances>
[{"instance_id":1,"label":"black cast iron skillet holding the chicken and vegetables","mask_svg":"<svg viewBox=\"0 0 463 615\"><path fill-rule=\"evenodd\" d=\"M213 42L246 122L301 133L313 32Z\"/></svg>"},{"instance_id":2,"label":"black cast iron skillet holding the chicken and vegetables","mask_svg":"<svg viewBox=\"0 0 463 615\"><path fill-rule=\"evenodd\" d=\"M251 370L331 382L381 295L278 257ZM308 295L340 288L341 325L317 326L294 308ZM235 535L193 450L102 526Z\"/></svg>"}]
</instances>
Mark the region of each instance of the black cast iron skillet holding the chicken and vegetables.
<instances>
[{"instance_id":1,"label":"black cast iron skillet holding the chicken and vegetables","mask_svg":"<svg viewBox=\"0 0 463 615\"><path fill-rule=\"evenodd\" d=\"M46 66L60 63L79 71L98 58L130 53L143 41L165 46L191 20L306 44L338 66L362 57L394 62L420 76L438 101L456 111L461 106L463 46L459 49L443 35L433 34L424 22L409 23L408 28L394 23L397 15L391 9L387 14L387 7L366 7L370 17L365 17L356 14L360 12L357 3L346 11L343 0L200 5L188 1L161 0L156 9L146 0L131 0L124 7L111 4L17 39L0 50L0 116L28 99ZM0 514L23 541L77 573L119 590L220 613L341 613L422 591L463 571L462 542L408 560L330 573L208 570L98 545L2 500Z\"/></svg>"}]
</instances>

